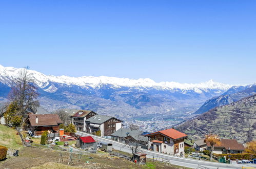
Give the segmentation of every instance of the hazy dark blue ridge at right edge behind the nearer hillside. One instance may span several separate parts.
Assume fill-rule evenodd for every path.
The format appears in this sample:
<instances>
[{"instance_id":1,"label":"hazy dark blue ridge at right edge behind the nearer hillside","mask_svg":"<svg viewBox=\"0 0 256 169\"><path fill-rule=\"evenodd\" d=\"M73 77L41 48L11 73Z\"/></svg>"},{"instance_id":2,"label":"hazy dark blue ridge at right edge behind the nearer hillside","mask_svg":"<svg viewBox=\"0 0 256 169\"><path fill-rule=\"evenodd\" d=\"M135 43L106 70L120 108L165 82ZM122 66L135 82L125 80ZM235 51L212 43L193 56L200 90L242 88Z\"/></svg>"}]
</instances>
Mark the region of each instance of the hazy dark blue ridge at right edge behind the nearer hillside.
<instances>
[{"instance_id":1,"label":"hazy dark blue ridge at right edge behind the nearer hillside","mask_svg":"<svg viewBox=\"0 0 256 169\"><path fill-rule=\"evenodd\" d=\"M231 87L218 97L207 100L194 114L202 114L215 107L227 105L256 93L256 85Z\"/></svg>"}]
</instances>

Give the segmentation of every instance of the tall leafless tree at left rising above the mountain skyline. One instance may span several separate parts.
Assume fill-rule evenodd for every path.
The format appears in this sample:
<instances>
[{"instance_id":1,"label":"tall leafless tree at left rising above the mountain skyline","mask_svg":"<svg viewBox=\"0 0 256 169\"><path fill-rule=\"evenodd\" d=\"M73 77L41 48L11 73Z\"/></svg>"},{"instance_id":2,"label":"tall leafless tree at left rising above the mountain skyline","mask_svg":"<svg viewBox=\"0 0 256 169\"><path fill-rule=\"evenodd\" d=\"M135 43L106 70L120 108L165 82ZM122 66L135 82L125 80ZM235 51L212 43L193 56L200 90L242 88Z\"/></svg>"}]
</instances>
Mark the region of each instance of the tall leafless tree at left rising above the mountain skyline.
<instances>
[{"instance_id":1,"label":"tall leafless tree at left rising above the mountain skyline","mask_svg":"<svg viewBox=\"0 0 256 169\"><path fill-rule=\"evenodd\" d=\"M39 106L34 79L28 69L29 67L25 67L19 71L18 76L12 80L11 91L8 94L9 100L18 105L17 115L25 115L28 110L35 112Z\"/></svg>"}]
</instances>

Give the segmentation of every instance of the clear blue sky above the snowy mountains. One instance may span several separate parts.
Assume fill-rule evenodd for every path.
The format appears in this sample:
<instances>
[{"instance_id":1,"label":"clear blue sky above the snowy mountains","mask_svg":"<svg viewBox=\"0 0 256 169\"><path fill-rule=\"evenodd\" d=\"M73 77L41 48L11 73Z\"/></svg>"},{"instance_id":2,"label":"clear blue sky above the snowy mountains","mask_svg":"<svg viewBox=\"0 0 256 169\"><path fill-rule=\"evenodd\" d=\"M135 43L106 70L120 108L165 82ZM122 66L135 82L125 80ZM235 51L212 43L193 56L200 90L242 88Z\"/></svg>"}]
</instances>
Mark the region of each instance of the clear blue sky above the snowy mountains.
<instances>
[{"instance_id":1,"label":"clear blue sky above the snowy mountains","mask_svg":"<svg viewBox=\"0 0 256 169\"><path fill-rule=\"evenodd\" d=\"M0 1L0 64L47 75L256 82L256 1Z\"/></svg>"}]
</instances>

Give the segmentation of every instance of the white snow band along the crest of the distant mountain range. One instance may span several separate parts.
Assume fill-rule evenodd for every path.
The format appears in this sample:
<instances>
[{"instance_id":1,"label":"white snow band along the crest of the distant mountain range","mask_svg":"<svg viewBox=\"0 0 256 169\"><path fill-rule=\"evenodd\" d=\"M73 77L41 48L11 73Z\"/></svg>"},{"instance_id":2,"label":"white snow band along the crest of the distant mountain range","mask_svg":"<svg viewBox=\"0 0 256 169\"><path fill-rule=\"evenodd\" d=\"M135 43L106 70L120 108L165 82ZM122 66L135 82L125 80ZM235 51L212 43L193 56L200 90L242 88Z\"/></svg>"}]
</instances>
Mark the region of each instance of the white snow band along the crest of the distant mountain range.
<instances>
[{"instance_id":1,"label":"white snow band along the crest of the distant mountain range","mask_svg":"<svg viewBox=\"0 0 256 169\"><path fill-rule=\"evenodd\" d=\"M13 68L13 67L3 67L0 65L0 81L7 84L10 79L16 77L18 72L23 68ZM119 87L130 87L130 88L154 88L156 90L193 90L196 93L201 94L202 90L221 90L225 91L232 87L232 85L227 85L220 82L214 82L209 80L201 83L179 83L179 82L155 82L150 78L140 78L140 79L129 79L129 78L117 78L117 77L107 77L107 76L82 76L82 77L69 77L69 76L52 76L44 75L43 73L29 70L35 79L36 85L40 88L45 88L50 82L63 83L66 85L76 85L80 87L92 87L96 88L100 84L110 84L115 88ZM55 92L57 88L53 85L45 89L47 92ZM218 91L217 91L218 92Z\"/></svg>"}]
</instances>

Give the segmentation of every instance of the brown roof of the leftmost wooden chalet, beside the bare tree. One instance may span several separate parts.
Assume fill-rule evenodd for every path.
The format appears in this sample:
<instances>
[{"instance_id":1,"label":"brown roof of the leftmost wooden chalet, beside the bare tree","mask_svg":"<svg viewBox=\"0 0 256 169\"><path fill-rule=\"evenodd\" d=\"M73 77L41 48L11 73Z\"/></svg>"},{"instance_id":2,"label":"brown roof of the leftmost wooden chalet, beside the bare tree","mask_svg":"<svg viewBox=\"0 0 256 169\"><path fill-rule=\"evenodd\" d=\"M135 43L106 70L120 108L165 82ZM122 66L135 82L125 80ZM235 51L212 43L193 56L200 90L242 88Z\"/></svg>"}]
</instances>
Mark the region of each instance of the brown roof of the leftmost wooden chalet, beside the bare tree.
<instances>
[{"instance_id":1,"label":"brown roof of the leftmost wooden chalet, beside the bare tree","mask_svg":"<svg viewBox=\"0 0 256 169\"><path fill-rule=\"evenodd\" d=\"M36 117L38 123L35 122ZM54 126L63 123L57 114L29 114L28 120L32 126Z\"/></svg>"}]
</instances>

